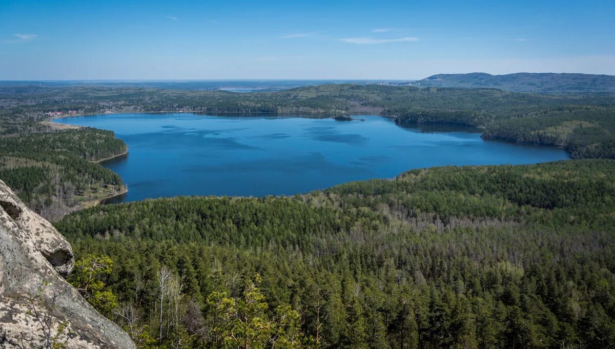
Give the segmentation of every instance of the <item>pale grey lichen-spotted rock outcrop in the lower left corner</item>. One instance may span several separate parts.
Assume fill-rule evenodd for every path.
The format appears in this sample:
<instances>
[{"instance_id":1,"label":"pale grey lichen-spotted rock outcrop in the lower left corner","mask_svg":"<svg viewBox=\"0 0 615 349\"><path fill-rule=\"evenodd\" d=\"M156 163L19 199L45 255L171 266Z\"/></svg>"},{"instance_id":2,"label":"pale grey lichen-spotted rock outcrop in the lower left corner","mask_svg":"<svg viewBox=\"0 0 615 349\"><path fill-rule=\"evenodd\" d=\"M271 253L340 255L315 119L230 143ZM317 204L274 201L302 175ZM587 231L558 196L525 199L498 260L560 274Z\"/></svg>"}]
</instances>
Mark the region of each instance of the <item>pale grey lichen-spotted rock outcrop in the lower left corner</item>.
<instances>
[{"instance_id":1,"label":"pale grey lichen-spotted rock outcrop in the lower left corner","mask_svg":"<svg viewBox=\"0 0 615 349\"><path fill-rule=\"evenodd\" d=\"M0 181L0 348L135 348L64 280L73 266L68 241Z\"/></svg>"}]
</instances>

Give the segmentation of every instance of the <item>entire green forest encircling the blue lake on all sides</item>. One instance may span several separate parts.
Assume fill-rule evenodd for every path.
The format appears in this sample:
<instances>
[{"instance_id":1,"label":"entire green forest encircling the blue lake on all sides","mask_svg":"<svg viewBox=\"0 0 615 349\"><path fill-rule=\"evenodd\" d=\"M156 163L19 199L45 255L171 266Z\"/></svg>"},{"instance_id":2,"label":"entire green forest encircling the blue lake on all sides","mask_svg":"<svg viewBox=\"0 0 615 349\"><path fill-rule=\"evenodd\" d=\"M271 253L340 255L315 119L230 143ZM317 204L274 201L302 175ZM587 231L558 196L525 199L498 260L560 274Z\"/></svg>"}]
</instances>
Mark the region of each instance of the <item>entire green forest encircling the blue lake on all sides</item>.
<instances>
[{"instance_id":1,"label":"entire green forest encircling the blue lake on all sides","mask_svg":"<svg viewBox=\"0 0 615 349\"><path fill-rule=\"evenodd\" d=\"M412 170L293 197L121 192L112 132L57 114L372 113L574 159ZM0 88L0 179L76 252L69 281L139 348L615 347L615 98L490 88Z\"/></svg>"}]
</instances>

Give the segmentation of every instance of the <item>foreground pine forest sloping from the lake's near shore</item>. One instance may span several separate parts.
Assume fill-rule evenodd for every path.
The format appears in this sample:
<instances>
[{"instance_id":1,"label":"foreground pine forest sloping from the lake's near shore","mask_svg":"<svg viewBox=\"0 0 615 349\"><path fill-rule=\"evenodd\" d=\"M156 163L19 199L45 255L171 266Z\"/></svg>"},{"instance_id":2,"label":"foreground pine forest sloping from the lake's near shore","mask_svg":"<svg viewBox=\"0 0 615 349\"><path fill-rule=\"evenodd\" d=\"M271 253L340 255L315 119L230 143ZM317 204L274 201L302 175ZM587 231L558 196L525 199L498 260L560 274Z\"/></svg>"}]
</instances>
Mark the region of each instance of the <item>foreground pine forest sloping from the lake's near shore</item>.
<instances>
[{"instance_id":1,"label":"foreground pine forest sloping from the lake's near shore","mask_svg":"<svg viewBox=\"0 0 615 349\"><path fill-rule=\"evenodd\" d=\"M139 347L609 348L614 183L613 160L442 167L56 226Z\"/></svg>"}]
</instances>

